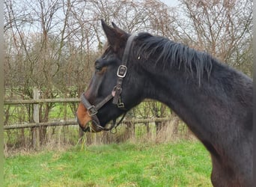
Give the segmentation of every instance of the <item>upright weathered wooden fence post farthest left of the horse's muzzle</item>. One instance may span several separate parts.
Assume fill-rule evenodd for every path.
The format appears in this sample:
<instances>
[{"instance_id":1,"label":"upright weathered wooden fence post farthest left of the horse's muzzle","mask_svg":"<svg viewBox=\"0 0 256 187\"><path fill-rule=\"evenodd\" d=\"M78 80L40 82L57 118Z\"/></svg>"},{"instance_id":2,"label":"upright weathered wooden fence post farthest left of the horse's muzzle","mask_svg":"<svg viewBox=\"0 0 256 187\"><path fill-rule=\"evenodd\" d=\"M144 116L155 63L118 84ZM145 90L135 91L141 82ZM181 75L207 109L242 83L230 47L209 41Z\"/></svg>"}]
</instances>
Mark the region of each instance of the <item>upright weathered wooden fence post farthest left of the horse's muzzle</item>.
<instances>
[{"instance_id":1,"label":"upright weathered wooden fence post farthest left of the horse's muzzle","mask_svg":"<svg viewBox=\"0 0 256 187\"><path fill-rule=\"evenodd\" d=\"M37 88L33 89L33 99L39 99L39 91ZM33 104L34 113L33 120L34 123L39 123L39 104ZM39 127L32 128L32 144L34 150L38 150L40 147L40 135L39 135Z\"/></svg>"}]
</instances>

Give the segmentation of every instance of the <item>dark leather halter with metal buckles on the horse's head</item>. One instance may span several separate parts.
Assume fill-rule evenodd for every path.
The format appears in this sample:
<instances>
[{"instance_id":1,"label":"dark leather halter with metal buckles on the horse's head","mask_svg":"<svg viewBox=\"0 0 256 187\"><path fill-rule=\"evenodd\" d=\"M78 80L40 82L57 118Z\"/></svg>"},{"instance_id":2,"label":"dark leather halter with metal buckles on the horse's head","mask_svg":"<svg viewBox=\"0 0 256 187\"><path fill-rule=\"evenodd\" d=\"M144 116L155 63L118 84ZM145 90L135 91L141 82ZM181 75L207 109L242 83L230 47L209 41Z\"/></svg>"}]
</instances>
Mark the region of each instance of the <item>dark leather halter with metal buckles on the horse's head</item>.
<instances>
[{"instance_id":1,"label":"dark leather halter with metal buckles on the horse's head","mask_svg":"<svg viewBox=\"0 0 256 187\"><path fill-rule=\"evenodd\" d=\"M121 121L124 119L125 114L127 114L127 112L124 113L123 117L121 117L121 120L118 122L118 124L116 124L116 119L113 120L112 126L110 126L109 128L103 127L100 125L100 120L97 117L97 113L98 110L100 108L103 107L103 105L105 105L107 102L109 102L109 100L111 100L113 98L112 103L117 105L118 108L124 108L124 102L121 101L121 92L122 92L122 84L123 84L123 80L124 77L127 75L127 62L128 62L128 58L129 58L129 52L132 46L132 41L135 39L135 37L137 37L138 34L132 34L131 36L129 36L128 40L127 40L127 45L124 49L124 55L122 58L122 64L118 67L118 72L117 72L117 76L118 76L118 81L117 81L117 85L115 85L115 87L112 90L112 93L109 93L108 96L105 97L105 99L103 99L101 102L97 103L97 105L92 105L88 99L85 98L85 93L82 93L81 96L81 102L82 104L85 106L85 108L88 110L88 115L91 117L92 120L92 125L94 126L94 129L96 131L109 131L112 130L114 127L116 128L118 125L120 125ZM77 118L78 120L78 118ZM79 120L78 120L79 123ZM80 123L79 123L80 124ZM82 126L80 126L82 128ZM88 127L90 128L90 127ZM82 130L84 132L88 131L88 128L82 128Z\"/></svg>"}]
</instances>

